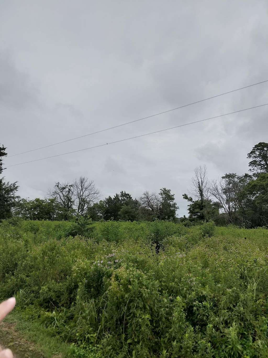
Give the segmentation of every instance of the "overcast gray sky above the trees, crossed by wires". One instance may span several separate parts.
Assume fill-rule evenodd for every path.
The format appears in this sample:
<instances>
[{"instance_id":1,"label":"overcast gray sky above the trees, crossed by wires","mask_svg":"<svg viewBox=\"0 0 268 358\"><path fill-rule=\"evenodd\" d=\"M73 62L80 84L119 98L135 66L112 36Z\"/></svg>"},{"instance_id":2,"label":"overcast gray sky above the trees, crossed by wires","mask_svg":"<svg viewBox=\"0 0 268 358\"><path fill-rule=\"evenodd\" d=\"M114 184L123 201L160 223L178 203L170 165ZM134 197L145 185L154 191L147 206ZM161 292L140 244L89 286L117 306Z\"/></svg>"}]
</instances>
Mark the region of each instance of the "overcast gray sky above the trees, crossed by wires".
<instances>
[{"instance_id":1,"label":"overcast gray sky above the trees, crossed by wires","mask_svg":"<svg viewBox=\"0 0 268 358\"><path fill-rule=\"evenodd\" d=\"M0 142L34 149L268 79L267 1L0 0ZM83 139L12 165L268 102L268 83ZM197 165L248 170L268 106L5 170L22 197L88 176L103 197L167 187L179 216Z\"/></svg>"}]
</instances>

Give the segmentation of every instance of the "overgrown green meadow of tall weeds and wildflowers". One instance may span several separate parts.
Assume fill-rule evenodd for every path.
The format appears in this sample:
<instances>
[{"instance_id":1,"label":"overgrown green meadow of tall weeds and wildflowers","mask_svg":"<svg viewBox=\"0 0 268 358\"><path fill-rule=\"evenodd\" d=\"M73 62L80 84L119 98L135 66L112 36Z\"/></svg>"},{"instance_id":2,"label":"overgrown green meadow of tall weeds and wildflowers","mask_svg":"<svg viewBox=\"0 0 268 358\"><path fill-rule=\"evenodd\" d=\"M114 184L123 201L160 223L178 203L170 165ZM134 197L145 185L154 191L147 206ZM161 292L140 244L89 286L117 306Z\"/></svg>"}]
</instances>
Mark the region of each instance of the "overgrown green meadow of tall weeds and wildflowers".
<instances>
[{"instance_id":1,"label":"overgrown green meadow of tall weeds and wildflowers","mask_svg":"<svg viewBox=\"0 0 268 358\"><path fill-rule=\"evenodd\" d=\"M110 221L83 232L0 225L1 299L15 294L20 317L66 355L268 357L267 229Z\"/></svg>"}]
</instances>

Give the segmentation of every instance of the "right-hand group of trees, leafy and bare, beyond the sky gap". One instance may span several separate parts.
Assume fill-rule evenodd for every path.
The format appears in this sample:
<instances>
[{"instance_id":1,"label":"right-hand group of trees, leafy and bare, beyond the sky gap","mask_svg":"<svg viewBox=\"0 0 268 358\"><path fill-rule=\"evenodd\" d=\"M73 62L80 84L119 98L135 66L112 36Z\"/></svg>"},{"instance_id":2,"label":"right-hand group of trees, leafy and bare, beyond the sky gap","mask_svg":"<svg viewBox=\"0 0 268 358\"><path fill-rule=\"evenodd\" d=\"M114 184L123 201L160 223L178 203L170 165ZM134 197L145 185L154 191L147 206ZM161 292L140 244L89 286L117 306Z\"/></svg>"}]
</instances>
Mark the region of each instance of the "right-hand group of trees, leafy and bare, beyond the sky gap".
<instances>
[{"instance_id":1,"label":"right-hand group of trees, leafy and bare, beyond the sky gap","mask_svg":"<svg viewBox=\"0 0 268 358\"><path fill-rule=\"evenodd\" d=\"M182 221L213 220L219 225L268 227L268 143L259 142L247 156L250 174L226 173L209 180L207 167L195 169L188 200L189 217Z\"/></svg>"}]
</instances>

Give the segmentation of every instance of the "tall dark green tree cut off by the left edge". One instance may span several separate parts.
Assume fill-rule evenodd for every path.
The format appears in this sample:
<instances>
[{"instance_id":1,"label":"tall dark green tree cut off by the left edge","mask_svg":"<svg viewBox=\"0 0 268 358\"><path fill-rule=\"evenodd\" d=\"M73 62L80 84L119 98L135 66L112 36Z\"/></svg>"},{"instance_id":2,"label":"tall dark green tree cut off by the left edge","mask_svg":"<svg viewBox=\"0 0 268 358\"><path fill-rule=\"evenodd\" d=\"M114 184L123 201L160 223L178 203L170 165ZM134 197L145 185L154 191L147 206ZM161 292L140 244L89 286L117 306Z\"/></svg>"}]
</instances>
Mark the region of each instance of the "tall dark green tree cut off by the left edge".
<instances>
[{"instance_id":1,"label":"tall dark green tree cut off by the left edge","mask_svg":"<svg viewBox=\"0 0 268 358\"><path fill-rule=\"evenodd\" d=\"M0 174L3 173L3 158L7 155L6 147L0 145ZM7 219L12 216L12 209L16 205L16 200L19 198L16 195L18 190L17 182L5 182L5 178L0 178L0 220Z\"/></svg>"}]
</instances>

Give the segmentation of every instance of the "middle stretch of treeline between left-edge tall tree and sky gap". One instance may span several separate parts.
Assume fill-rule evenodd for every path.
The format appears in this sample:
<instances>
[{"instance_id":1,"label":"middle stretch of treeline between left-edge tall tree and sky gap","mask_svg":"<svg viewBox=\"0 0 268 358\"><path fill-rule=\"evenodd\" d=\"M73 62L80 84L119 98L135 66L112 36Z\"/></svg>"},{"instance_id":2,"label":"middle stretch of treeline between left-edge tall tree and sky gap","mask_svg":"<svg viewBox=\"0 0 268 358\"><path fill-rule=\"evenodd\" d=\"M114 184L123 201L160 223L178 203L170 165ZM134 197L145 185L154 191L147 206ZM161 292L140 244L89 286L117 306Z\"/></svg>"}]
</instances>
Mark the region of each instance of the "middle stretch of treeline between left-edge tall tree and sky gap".
<instances>
[{"instance_id":1,"label":"middle stretch of treeline between left-edge tall tree and sky gap","mask_svg":"<svg viewBox=\"0 0 268 358\"><path fill-rule=\"evenodd\" d=\"M170 189L162 188L159 194L145 191L139 199L121 191L114 197L99 200L100 190L94 182L80 176L73 183L56 183L48 198L19 199L13 216L29 220L70 220L88 217L93 221L153 221L176 220L177 204Z\"/></svg>"}]
</instances>

